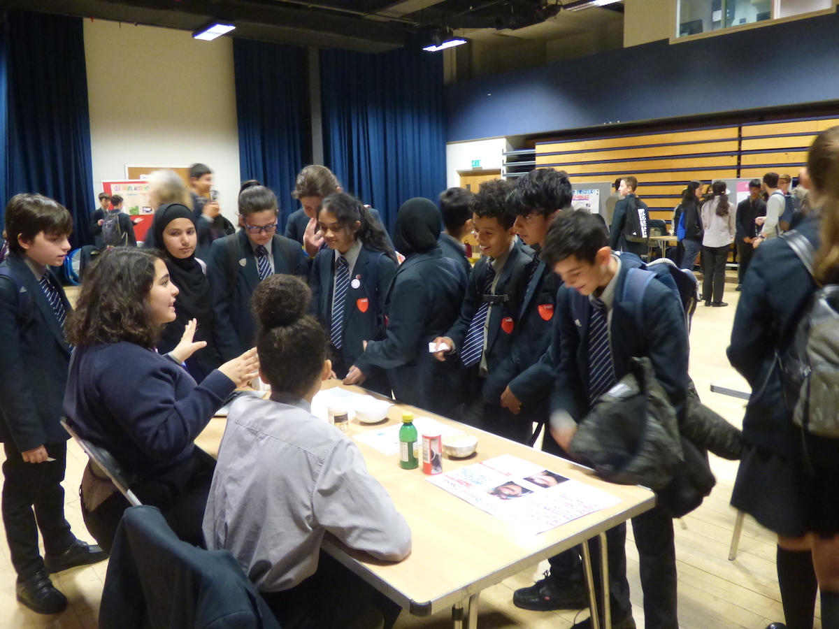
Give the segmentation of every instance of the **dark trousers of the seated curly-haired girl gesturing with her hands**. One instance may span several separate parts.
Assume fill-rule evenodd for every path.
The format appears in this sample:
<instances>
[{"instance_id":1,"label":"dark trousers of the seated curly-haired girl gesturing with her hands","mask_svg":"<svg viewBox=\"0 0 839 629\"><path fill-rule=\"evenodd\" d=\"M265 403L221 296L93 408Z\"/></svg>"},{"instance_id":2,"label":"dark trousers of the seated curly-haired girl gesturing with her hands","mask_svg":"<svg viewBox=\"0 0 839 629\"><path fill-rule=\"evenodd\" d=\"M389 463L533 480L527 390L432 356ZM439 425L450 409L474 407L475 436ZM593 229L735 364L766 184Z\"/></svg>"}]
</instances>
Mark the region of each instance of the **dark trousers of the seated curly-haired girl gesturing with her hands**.
<instances>
[{"instance_id":1,"label":"dark trousers of the seated curly-haired girl gesturing with her hands","mask_svg":"<svg viewBox=\"0 0 839 629\"><path fill-rule=\"evenodd\" d=\"M197 454L196 449L174 470L149 481L132 484L131 490L144 505L160 509L166 523L180 540L205 548L201 524L214 467L215 464L207 460L206 455ZM128 500L119 492L92 511L88 511L84 500L81 501L81 515L87 530L108 553L122 520L122 512L128 507Z\"/></svg>"}]
</instances>

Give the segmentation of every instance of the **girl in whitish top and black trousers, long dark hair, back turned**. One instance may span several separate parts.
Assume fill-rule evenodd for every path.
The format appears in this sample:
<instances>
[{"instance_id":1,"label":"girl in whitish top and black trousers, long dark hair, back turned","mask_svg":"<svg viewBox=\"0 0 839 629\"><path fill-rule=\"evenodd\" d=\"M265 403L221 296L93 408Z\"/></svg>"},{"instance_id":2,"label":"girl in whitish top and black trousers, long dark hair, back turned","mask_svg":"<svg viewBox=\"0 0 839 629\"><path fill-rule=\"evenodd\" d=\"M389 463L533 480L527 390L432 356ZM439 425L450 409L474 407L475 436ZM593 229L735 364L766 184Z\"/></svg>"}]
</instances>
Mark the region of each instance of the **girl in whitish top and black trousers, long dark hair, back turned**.
<instances>
[{"instance_id":1,"label":"girl in whitish top and black trousers, long dark hair, back turned","mask_svg":"<svg viewBox=\"0 0 839 629\"><path fill-rule=\"evenodd\" d=\"M727 306L722 301L726 285L726 263L728 252L737 231L732 205L728 202L726 182L717 179L713 183L714 198L702 205L702 294L706 306L719 308Z\"/></svg>"}]
</instances>

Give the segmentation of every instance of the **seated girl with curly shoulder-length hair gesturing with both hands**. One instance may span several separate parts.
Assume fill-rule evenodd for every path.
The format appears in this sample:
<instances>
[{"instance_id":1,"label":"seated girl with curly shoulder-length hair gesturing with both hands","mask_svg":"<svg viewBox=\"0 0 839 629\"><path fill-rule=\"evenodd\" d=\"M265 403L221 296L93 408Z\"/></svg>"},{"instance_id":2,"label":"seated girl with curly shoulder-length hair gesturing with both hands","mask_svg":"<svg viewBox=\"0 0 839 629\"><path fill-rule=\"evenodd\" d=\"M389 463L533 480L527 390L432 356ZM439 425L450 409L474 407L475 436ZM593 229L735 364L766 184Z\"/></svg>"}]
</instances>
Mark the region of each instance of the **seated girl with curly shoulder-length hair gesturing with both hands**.
<instances>
[{"instance_id":1,"label":"seated girl with curly shoulder-length hair gesturing with both hands","mask_svg":"<svg viewBox=\"0 0 839 629\"><path fill-rule=\"evenodd\" d=\"M204 346L193 341L195 320L169 354L155 349L164 325L177 316L177 295L153 252L121 247L102 254L67 321L76 350L64 411L81 439L119 462L140 502L159 507L179 538L200 544L212 465L193 440L227 396L257 376L258 361L247 351L196 385L181 366ZM102 548L112 547L127 507L112 482L87 465L81 513Z\"/></svg>"}]
</instances>

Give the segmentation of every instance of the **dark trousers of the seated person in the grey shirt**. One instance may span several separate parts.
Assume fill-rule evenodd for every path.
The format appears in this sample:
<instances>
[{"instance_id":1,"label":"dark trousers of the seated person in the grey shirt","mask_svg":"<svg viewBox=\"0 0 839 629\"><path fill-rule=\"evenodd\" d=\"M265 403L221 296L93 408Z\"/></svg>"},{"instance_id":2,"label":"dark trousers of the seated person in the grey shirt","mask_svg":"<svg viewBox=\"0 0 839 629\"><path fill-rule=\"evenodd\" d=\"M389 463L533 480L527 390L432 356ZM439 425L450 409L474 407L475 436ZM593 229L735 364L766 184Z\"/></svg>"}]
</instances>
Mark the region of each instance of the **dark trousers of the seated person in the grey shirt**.
<instances>
[{"instance_id":1,"label":"dark trousers of the seated person in the grey shirt","mask_svg":"<svg viewBox=\"0 0 839 629\"><path fill-rule=\"evenodd\" d=\"M399 607L372 585L320 551L317 570L308 579L282 592L260 592L283 629L341 629L352 626L366 606L373 606L390 629Z\"/></svg>"}]
</instances>

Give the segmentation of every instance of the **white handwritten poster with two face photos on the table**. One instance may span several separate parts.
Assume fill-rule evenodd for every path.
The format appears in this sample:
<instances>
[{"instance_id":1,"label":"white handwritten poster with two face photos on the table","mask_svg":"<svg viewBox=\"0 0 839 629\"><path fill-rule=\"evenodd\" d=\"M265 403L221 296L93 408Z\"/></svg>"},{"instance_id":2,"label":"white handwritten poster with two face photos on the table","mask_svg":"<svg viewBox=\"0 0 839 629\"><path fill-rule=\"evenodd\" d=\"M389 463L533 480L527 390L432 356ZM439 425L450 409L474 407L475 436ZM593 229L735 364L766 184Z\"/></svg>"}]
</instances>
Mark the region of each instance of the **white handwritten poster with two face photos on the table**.
<instances>
[{"instance_id":1,"label":"white handwritten poster with two face photos on the table","mask_svg":"<svg viewBox=\"0 0 839 629\"><path fill-rule=\"evenodd\" d=\"M528 478L537 481L540 478L554 479L558 484L545 487ZM620 502L619 498L606 491L572 481L513 455L467 465L427 480L530 534L544 533ZM489 493L498 487L507 488L513 495L500 497ZM516 495L516 492L519 494Z\"/></svg>"}]
</instances>

